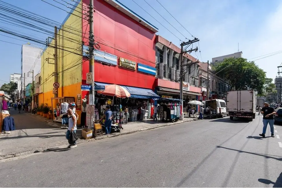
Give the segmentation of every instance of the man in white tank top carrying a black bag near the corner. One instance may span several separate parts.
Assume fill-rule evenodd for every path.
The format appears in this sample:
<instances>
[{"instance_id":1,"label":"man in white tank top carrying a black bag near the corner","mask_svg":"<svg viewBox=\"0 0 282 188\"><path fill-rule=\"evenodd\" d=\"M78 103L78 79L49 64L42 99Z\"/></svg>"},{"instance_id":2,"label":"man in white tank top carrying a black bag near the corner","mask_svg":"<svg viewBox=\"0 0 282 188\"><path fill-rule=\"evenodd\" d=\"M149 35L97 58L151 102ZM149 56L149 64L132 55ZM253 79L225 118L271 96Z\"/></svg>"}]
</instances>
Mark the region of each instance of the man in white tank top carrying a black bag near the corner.
<instances>
[{"instance_id":1,"label":"man in white tank top carrying a black bag near the corner","mask_svg":"<svg viewBox=\"0 0 282 188\"><path fill-rule=\"evenodd\" d=\"M69 148L76 148L76 116L73 114L72 109L68 109L68 115L69 115L69 128L67 130L66 138L69 141Z\"/></svg>"}]
</instances>

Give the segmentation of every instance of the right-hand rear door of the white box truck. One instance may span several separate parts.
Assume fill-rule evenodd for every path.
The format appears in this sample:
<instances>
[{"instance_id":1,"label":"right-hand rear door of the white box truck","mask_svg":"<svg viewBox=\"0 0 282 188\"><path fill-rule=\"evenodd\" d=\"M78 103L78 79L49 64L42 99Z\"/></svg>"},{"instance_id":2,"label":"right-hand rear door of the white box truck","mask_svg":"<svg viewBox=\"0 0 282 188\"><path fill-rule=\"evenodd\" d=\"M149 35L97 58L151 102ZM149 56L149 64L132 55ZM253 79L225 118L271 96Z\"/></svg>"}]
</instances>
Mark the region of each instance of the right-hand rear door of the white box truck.
<instances>
[{"instance_id":1,"label":"right-hand rear door of the white box truck","mask_svg":"<svg viewBox=\"0 0 282 188\"><path fill-rule=\"evenodd\" d=\"M240 112L253 112L253 90L241 90L238 92Z\"/></svg>"}]
</instances>

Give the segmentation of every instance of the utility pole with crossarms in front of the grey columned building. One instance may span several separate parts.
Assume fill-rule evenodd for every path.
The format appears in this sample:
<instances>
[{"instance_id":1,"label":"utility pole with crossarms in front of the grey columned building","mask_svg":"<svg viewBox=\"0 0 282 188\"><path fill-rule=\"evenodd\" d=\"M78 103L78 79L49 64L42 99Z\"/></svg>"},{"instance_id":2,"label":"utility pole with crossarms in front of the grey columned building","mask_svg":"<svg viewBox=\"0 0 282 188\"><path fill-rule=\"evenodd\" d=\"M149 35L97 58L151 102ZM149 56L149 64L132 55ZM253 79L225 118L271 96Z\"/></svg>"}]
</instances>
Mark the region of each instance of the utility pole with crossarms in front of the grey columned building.
<instances>
[{"instance_id":1,"label":"utility pole with crossarms in front of the grey columned building","mask_svg":"<svg viewBox=\"0 0 282 188\"><path fill-rule=\"evenodd\" d=\"M181 112L180 112L180 120L183 120L184 114L183 114L183 77L184 77L184 73L183 73L183 54L184 53L191 53L192 51L198 51L198 47L196 47L195 49L189 49L186 51L186 49L193 43L196 43L200 41L198 38L194 38L193 40L189 40L188 42L183 42L181 43L181 51L180 51L180 74L179 74L179 89L180 89L180 100L181 100ZM188 46L187 46L188 45ZM183 49L184 46L187 46L185 49ZM195 62L192 62L191 64L193 64ZM186 64L184 66L187 66Z\"/></svg>"}]
</instances>

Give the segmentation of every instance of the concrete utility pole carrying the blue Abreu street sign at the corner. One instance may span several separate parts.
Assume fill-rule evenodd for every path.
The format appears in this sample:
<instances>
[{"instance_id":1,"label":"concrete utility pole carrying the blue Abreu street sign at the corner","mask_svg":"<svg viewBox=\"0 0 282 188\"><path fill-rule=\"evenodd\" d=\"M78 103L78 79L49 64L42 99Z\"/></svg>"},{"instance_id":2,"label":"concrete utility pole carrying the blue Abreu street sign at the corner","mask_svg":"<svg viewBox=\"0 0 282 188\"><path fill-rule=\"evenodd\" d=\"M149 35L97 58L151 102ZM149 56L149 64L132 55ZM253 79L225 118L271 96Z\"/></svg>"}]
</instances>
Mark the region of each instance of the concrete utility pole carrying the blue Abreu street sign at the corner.
<instances>
[{"instance_id":1,"label":"concrete utility pole carrying the blue Abreu street sign at the corner","mask_svg":"<svg viewBox=\"0 0 282 188\"><path fill-rule=\"evenodd\" d=\"M89 72L92 73L91 90L89 91L89 104L94 104L94 18L93 5L94 0L89 2Z\"/></svg>"}]
</instances>

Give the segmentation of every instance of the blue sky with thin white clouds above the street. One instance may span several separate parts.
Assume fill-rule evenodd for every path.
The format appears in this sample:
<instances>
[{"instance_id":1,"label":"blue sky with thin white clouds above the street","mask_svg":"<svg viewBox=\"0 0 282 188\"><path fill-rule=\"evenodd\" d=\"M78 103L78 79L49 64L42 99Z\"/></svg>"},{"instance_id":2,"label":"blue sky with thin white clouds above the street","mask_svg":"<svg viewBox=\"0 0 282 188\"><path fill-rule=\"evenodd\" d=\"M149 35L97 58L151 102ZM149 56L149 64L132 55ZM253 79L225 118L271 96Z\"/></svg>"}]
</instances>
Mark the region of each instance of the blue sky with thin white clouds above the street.
<instances>
[{"instance_id":1,"label":"blue sky with thin white clouds above the street","mask_svg":"<svg viewBox=\"0 0 282 188\"><path fill-rule=\"evenodd\" d=\"M23 9L27 9L36 14L62 22L67 13L53 7L40 0L9 1ZM55 1L46 0L49 3L56 4ZM60 0L58 0L60 1ZM73 3L71 0L65 0ZM179 25L170 16L156 0L146 0L152 7L169 21L167 23L158 15L144 0L134 0L155 19L161 22L166 28L161 26L150 15L144 12L132 0L119 0L128 8L142 16L144 19L155 25L163 36L175 45L180 44L185 37L191 39L191 35ZM269 54L275 51L282 51L282 1L272 0L159 0L163 6L191 33L200 39L200 52L193 52L191 55L199 58L200 61L211 61L211 58L226 54L243 51L243 57L256 60L258 56ZM15 3L16 2L16 3ZM63 1L60 1L64 3ZM63 8L62 5L56 4ZM67 8L64 7L66 10ZM95 18L94 18L95 20ZM18 28L0 23L1 27L8 27L14 30ZM178 38L172 35L168 30L174 33ZM45 39L47 35L33 33L27 30L21 32L36 34L34 36ZM3 33L0 33L3 34ZM8 36L8 34L3 34ZM0 85L9 81L9 75L21 72L21 45L30 41L19 41L0 35L0 40L16 43L14 45L0 41ZM23 39L24 40L24 39ZM42 47L42 45L37 44ZM198 46L198 44L197 44ZM271 55L271 54L270 54ZM282 53L255 61L260 68L267 72L267 77L275 78L277 75L277 66L282 62ZM4 70L4 71L3 71Z\"/></svg>"}]
</instances>

